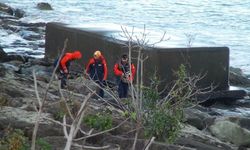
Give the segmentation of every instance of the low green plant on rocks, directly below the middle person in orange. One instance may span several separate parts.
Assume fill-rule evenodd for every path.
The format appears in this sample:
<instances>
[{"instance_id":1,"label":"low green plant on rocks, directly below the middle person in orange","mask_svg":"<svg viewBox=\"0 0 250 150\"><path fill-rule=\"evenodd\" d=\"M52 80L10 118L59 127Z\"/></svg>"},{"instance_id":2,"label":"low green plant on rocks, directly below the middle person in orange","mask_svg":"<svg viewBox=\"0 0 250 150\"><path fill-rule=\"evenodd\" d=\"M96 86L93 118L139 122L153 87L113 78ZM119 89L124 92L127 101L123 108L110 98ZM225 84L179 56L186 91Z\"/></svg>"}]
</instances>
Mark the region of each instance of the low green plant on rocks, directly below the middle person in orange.
<instances>
[{"instance_id":1,"label":"low green plant on rocks, directly below the middle person in orange","mask_svg":"<svg viewBox=\"0 0 250 150\"><path fill-rule=\"evenodd\" d=\"M104 131L112 128L112 116L106 113L87 115L84 117L83 122L96 130Z\"/></svg>"}]
</instances>

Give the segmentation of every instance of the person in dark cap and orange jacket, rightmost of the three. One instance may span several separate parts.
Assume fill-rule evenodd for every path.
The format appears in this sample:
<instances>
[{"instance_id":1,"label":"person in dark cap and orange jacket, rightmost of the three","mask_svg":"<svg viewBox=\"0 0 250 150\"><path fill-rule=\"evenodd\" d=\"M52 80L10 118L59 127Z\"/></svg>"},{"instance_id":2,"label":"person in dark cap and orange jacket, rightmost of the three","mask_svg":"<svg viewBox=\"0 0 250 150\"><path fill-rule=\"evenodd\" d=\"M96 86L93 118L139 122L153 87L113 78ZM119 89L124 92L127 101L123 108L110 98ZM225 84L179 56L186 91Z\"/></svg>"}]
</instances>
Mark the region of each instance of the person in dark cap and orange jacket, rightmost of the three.
<instances>
[{"instance_id":1,"label":"person in dark cap and orange jacket, rightmost of the three","mask_svg":"<svg viewBox=\"0 0 250 150\"><path fill-rule=\"evenodd\" d=\"M131 73L130 73L131 68ZM118 95L119 98L128 97L129 83L133 81L135 77L135 66L128 62L128 55L123 54L121 60L114 65L114 74L117 77L118 82Z\"/></svg>"}]
</instances>

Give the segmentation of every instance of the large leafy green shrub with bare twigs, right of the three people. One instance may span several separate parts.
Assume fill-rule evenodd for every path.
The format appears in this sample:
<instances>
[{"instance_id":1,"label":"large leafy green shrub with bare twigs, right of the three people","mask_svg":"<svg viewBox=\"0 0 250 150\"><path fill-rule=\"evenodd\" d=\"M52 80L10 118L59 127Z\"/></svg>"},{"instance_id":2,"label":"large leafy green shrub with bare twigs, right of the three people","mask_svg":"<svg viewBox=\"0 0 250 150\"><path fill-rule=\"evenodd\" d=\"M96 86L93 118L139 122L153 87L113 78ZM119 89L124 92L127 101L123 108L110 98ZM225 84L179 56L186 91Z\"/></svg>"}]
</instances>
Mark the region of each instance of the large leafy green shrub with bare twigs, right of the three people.
<instances>
[{"instance_id":1,"label":"large leafy green shrub with bare twigs, right of the three people","mask_svg":"<svg viewBox=\"0 0 250 150\"><path fill-rule=\"evenodd\" d=\"M159 82L143 89L143 127L147 137L156 137L160 141L174 142L181 131L183 110L189 95L196 89L187 85L189 78L184 65L175 72L177 80L167 99L161 98L157 89ZM157 79L157 78L155 78Z\"/></svg>"}]
</instances>

